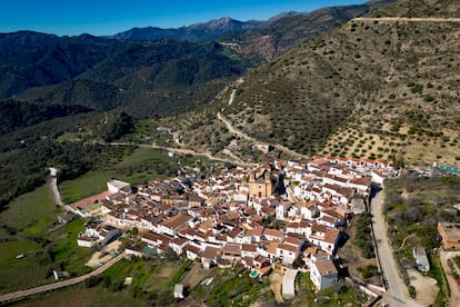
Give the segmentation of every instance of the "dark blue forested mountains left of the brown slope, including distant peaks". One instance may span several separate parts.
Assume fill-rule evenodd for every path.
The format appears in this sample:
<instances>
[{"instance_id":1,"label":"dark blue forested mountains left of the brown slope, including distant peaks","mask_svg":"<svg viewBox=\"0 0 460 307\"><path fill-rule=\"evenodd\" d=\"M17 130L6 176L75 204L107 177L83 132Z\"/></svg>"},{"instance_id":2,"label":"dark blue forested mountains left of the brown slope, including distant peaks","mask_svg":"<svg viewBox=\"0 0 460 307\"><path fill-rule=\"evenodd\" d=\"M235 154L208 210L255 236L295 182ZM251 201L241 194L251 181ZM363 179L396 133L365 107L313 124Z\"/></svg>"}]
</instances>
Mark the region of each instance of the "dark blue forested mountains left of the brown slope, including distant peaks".
<instances>
[{"instance_id":1,"label":"dark blue forested mountains left of the brown slope, including distant peaks","mask_svg":"<svg viewBox=\"0 0 460 307\"><path fill-rule=\"evenodd\" d=\"M192 110L248 68L387 2L267 21L222 18L180 29L131 29L110 38L2 33L0 98L104 111L129 106L138 116Z\"/></svg>"}]
</instances>

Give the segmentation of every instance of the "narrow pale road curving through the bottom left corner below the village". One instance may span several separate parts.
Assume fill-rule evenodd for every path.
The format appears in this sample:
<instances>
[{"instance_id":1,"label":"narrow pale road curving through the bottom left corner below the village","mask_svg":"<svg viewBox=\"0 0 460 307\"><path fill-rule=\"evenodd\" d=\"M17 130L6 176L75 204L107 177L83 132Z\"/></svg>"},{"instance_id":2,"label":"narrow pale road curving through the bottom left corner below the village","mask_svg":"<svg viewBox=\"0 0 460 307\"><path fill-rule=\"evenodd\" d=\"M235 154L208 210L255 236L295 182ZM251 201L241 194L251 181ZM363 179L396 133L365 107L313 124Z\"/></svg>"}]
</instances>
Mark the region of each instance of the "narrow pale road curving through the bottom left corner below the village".
<instances>
[{"instance_id":1,"label":"narrow pale road curving through the bottom left corner below the village","mask_svg":"<svg viewBox=\"0 0 460 307\"><path fill-rule=\"evenodd\" d=\"M60 289L60 288L63 288L63 287L80 284L80 283L84 281L86 279L90 278L91 276L96 276L96 275L101 274L102 271L110 268L112 265L117 264L119 260L121 260L124 257L127 257L127 255L124 252L122 252L122 254L118 255L117 257L114 257L113 259L111 259L110 261L108 261L107 264L102 265L101 267L97 268L96 270L93 270L93 271L91 271L87 275L83 275L83 276L79 276L79 277L76 277L76 278L72 278L72 279L58 281L58 283L54 283L54 284L49 284L49 285L44 285L44 286L40 286L40 287L27 289L27 290L20 290L20 291L2 295L2 296L0 296L0 305L12 303L12 301L16 301L16 300L20 300L20 299L23 299L23 298L27 298L27 297L30 297L30 296L34 296L34 295L38 295L38 294L48 293L48 291L52 291L52 290Z\"/></svg>"}]
</instances>

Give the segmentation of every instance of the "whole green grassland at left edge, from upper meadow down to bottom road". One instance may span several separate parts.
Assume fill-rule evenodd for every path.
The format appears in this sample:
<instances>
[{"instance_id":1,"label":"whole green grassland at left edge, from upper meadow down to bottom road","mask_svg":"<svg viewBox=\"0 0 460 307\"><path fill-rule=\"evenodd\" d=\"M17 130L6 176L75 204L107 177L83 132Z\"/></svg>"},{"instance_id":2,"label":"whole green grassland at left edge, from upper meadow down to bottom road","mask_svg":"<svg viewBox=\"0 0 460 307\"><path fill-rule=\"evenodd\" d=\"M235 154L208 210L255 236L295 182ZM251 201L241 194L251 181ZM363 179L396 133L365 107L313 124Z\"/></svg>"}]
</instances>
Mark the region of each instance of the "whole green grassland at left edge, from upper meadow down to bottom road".
<instances>
[{"instance_id":1,"label":"whole green grassland at left edge, from upper meadow down to bottom road","mask_svg":"<svg viewBox=\"0 0 460 307\"><path fill-rule=\"evenodd\" d=\"M44 185L16 198L0 214L0 293L51 281L51 260L43 254L43 238L59 212ZM21 254L24 258L17 259Z\"/></svg>"}]
</instances>

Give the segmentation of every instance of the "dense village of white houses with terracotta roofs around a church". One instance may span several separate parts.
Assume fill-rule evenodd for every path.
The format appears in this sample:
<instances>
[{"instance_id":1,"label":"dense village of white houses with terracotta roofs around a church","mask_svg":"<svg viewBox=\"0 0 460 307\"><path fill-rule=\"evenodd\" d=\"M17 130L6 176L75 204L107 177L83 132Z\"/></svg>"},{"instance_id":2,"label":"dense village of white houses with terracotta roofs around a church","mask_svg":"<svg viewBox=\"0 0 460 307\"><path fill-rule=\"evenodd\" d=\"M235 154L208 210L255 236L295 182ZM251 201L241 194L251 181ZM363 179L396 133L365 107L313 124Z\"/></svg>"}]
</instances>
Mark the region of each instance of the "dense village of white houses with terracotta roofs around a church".
<instances>
[{"instance_id":1,"label":"dense village of white houses with terracotta roofs around a church","mask_svg":"<svg viewBox=\"0 0 460 307\"><path fill-rule=\"evenodd\" d=\"M332 259L340 229L353 212L352 199L362 202L372 182L391 171L387 161L327 157L271 159L204 179L183 169L136 192L129 184L108 182L111 194L101 201L101 214L104 225L139 229L142 244L127 252L174 252L204 268L239 261L251 277L299 268L323 289L338 281ZM83 237L98 236L89 227Z\"/></svg>"}]
</instances>

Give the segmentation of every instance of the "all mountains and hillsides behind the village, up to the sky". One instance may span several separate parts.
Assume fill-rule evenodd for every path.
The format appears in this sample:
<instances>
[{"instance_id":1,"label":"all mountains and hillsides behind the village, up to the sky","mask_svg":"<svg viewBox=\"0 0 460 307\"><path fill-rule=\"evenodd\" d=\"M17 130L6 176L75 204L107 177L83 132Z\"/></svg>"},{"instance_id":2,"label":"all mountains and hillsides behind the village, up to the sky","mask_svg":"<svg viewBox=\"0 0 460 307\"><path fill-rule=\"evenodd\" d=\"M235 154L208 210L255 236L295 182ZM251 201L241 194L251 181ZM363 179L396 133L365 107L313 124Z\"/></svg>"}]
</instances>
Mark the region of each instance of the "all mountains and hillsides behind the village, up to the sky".
<instances>
[{"instance_id":1,"label":"all mountains and hillsides behind the village, up to the sky","mask_svg":"<svg viewBox=\"0 0 460 307\"><path fill-rule=\"evenodd\" d=\"M0 166L8 166L0 182L1 191L13 190L1 201L40 182L52 161L37 157L66 143L92 147L106 132L118 136L118 122L132 131L136 120L174 127L182 146L243 161L260 157L256 139L290 149L271 154L284 158L294 151L458 165L460 26L442 20L460 17L457 2L382 0L157 31L201 27L204 37L213 27L200 42L132 31L0 34ZM64 164L62 152L53 157ZM73 176L91 167L83 158Z\"/></svg>"}]
</instances>

